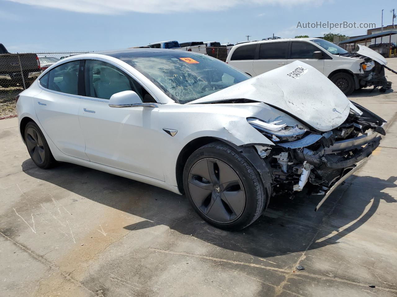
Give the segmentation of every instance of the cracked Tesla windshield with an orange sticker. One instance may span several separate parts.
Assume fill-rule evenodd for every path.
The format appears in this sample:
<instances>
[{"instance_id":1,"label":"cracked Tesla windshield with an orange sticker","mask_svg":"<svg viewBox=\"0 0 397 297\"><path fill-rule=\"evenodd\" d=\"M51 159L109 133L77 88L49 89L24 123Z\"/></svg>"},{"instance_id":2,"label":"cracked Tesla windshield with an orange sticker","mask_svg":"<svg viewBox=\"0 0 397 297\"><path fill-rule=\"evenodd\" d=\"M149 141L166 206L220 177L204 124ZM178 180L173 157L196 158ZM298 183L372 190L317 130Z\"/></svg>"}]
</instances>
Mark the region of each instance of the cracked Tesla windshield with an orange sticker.
<instances>
[{"instance_id":1,"label":"cracked Tesla windshield with an orange sticker","mask_svg":"<svg viewBox=\"0 0 397 297\"><path fill-rule=\"evenodd\" d=\"M250 78L220 60L200 54L149 52L121 59L181 104Z\"/></svg>"}]
</instances>

